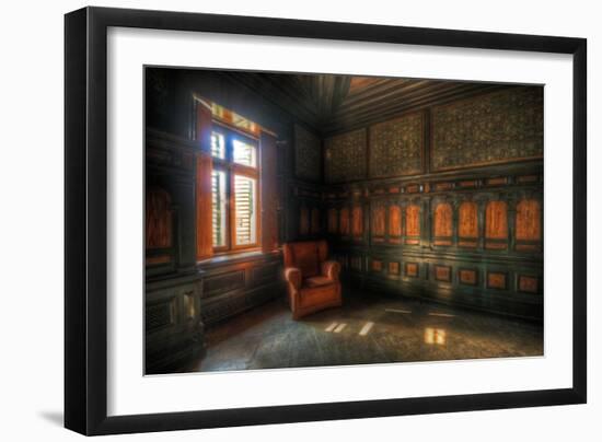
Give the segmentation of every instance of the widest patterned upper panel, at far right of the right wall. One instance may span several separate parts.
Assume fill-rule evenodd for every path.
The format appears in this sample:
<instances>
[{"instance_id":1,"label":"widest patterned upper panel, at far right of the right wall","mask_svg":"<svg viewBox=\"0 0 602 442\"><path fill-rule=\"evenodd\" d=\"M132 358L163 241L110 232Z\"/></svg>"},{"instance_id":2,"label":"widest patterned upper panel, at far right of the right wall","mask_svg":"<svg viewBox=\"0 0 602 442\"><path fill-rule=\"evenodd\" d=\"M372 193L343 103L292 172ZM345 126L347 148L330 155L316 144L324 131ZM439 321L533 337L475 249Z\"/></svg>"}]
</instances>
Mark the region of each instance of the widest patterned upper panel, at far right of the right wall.
<instances>
[{"instance_id":1,"label":"widest patterned upper panel, at far right of the right wall","mask_svg":"<svg viewBox=\"0 0 602 442\"><path fill-rule=\"evenodd\" d=\"M432 109L431 167L445 171L543 155L543 88L514 88Z\"/></svg>"}]
</instances>

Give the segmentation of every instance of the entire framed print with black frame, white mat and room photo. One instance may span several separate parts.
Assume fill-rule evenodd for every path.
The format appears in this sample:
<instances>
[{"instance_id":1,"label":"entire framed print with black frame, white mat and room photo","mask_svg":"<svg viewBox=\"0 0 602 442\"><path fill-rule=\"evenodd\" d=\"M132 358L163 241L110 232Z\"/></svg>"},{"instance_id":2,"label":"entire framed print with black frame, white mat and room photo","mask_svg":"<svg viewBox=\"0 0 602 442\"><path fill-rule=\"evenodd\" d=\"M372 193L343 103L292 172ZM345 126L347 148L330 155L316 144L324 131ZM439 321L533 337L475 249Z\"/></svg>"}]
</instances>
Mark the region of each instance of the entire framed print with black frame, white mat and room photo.
<instances>
[{"instance_id":1,"label":"entire framed print with black frame, white mat and room photo","mask_svg":"<svg viewBox=\"0 0 602 442\"><path fill-rule=\"evenodd\" d=\"M584 39L65 26L67 428L586 402Z\"/></svg>"}]
</instances>

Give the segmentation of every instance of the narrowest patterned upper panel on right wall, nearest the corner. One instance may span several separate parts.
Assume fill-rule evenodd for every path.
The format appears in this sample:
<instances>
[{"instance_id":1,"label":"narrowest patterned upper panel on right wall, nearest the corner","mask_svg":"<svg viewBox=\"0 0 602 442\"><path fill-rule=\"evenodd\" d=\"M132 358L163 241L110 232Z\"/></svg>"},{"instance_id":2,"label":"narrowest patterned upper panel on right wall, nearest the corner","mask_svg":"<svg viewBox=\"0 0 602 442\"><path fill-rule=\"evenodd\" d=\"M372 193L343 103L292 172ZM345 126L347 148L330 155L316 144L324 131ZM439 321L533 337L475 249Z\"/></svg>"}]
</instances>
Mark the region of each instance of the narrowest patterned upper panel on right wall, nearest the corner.
<instances>
[{"instance_id":1,"label":"narrowest patterned upper panel on right wall, nearest the corner","mask_svg":"<svg viewBox=\"0 0 602 442\"><path fill-rule=\"evenodd\" d=\"M326 182L343 183L366 178L366 129L325 140Z\"/></svg>"}]
</instances>

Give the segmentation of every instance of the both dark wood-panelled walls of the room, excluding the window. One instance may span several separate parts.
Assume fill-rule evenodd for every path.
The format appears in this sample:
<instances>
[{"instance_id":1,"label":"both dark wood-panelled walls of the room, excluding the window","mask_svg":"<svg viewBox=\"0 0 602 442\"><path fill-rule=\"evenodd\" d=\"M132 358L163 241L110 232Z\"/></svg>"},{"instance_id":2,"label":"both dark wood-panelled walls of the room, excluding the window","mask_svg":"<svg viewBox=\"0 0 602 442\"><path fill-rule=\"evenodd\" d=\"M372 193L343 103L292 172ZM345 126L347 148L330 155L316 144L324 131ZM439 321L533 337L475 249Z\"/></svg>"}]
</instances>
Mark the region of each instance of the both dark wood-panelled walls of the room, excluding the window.
<instances>
[{"instance_id":1,"label":"both dark wood-panelled walls of the room, excluding the window","mask_svg":"<svg viewBox=\"0 0 602 442\"><path fill-rule=\"evenodd\" d=\"M277 135L262 195L278 244L327 237L355 284L542 318L541 88L473 91L325 137L239 80L146 72L147 373L182 368L205 327L285 294L278 249L197 263L195 96Z\"/></svg>"}]
</instances>

